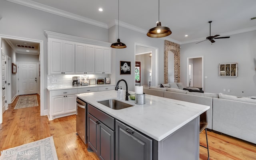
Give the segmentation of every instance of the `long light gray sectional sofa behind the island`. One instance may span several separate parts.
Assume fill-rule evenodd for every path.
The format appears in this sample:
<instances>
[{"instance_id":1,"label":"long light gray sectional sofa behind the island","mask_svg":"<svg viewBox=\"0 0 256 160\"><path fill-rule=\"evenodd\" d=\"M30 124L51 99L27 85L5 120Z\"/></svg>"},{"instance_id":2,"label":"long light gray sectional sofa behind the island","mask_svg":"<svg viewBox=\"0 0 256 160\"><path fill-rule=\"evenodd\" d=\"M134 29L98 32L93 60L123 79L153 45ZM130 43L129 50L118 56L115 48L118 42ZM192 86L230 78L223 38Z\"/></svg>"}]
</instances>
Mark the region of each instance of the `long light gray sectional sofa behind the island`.
<instances>
[{"instance_id":1,"label":"long light gray sectional sofa behind the island","mask_svg":"<svg viewBox=\"0 0 256 160\"><path fill-rule=\"evenodd\" d=\"M189 92L183 90L182 85L178 89L173 86L174 83L172 87L167 84L165 87L144 87L143 91L149 95L208 105L208 129L256 144L256 99Z\"/></svg>"}]
</instances>

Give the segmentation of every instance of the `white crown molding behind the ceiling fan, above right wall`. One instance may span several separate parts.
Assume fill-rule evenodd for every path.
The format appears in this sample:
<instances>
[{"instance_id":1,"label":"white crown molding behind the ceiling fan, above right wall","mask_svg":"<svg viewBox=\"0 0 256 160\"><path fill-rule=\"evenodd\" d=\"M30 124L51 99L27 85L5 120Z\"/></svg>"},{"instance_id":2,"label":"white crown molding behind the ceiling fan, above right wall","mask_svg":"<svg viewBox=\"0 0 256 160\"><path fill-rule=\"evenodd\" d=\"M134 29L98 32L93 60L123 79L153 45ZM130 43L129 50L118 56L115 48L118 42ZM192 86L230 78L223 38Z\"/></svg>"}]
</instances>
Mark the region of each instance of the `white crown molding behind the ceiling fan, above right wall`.
<instances>
[{"instance_id":1,"label":"white crown molding behind the ceiling fan, above right wall","mask_svg":"<svg viewBox=\"0 0 256 160\"><path fill-rule=\"evenodd\" d=\"M235 30L235 31L231 31L231 32L225 32L225 33L222 33L220 35L221 36L230 36L230 35L234 35L234 34L241 34L241 33L255 31L255 30L256 30L256 26L249 27L249 28L244 28L244 29L241 29L241 30ZM198 40L198 39L201 39L201 40ZM183 41L183 42L181 42L181 44L194 43L194 42L202 41L204 39L205 39L205 37L197 38L196 40Z\"/></svg>"}]
</instances>

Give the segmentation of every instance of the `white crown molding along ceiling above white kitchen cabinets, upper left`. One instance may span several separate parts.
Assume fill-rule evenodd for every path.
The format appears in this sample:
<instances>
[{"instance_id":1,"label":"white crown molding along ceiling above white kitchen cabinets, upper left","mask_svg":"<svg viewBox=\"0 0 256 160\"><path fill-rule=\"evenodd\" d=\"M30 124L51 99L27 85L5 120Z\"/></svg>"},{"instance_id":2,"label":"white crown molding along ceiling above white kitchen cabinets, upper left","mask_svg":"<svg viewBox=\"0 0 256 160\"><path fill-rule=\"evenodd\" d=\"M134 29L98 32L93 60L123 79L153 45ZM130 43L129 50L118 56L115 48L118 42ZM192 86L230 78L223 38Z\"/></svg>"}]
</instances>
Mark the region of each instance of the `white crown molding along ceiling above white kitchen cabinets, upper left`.
<instances>
[{"instance_id":1,"label":"white crown molding along ceiling above white kitchen cabinets, upper left","mask_svg":"<svg viewBox=\"0 0 256 160\"><path fill-rule=\"evenodd\" d=\"M34 8L34 9L37 9L37 10L42 10L44 12L56 14L58 16L63 16L63 17L66 17L66 18L70 18L70 19L73 19L73 20L77 20L77 21L80 21L80 22L84 22L84 23L87 23L87 24L92 24L94 26L98 26L98 27L108 29L108 25L105 24L105 23L98 22L98 21L92 20L90 18L79 16L77 14L72 14L70 12L66 12L64 10L59 10L57 8L46 6L44 4L33 2L33 1L30 1L30 0L6 0L6 1L13 2L13 3L20 4L20 5L23 5L23 6L27 6L27 7L30 7L30 8Z\"/></svg>"}]
</instances>

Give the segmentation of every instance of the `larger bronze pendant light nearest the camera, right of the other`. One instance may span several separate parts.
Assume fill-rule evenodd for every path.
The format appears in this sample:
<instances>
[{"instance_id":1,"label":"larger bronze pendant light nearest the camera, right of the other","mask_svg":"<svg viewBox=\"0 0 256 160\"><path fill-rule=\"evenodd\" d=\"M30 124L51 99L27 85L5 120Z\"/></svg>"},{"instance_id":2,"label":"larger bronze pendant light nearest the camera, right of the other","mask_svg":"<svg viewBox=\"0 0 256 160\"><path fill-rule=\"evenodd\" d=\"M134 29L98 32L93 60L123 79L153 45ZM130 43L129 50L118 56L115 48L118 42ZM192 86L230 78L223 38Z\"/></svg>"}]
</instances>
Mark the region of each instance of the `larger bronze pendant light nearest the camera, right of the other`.
<instances>
[{"instance_id":1,"label":"larger bronze pendant light nearest the camera, right of the other","mask_svg":"<svg viewBox=\"0 0 256 160\"><path fill-rule=\"evenodd\" d=\"M161 22L159 21L159 6L160 0L158 0L158 22L156 22L156 27L148 30L147 36L152 38L161 38L166 37L172 34L172 31L168 27L161 26Z\"/></svg>"}]
</instances>

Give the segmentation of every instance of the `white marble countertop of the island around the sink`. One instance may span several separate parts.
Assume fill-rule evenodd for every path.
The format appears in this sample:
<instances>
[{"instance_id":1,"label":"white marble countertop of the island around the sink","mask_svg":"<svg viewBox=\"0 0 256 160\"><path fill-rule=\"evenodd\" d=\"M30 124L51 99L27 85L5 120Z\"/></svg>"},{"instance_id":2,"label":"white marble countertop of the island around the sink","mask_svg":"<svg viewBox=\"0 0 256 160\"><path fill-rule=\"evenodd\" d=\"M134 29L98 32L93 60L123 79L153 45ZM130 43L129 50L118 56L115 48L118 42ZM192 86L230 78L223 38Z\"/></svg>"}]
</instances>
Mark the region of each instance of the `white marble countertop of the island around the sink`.
<instances>
[{"instance_id":1,"label":"white marble countertop of the island around the sink","mask_svg":"<svg viewBox=\"0 0 256 160\"><path fill-rule=\"evenodd\" d=\"M123 90L125 92L125 90ZM140 132L161 141L191 120L204 113L209 106L178 101L153 95L146 95L145 105L136 105L134 100L123 101L134 106L114 110L98 103L106 99L116 99L115 90L92 93L82 93L78 97L90 103L101 111L128 124ZM134 93L129 91L129 93Z\"/></svg>"}]
</instances>

